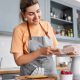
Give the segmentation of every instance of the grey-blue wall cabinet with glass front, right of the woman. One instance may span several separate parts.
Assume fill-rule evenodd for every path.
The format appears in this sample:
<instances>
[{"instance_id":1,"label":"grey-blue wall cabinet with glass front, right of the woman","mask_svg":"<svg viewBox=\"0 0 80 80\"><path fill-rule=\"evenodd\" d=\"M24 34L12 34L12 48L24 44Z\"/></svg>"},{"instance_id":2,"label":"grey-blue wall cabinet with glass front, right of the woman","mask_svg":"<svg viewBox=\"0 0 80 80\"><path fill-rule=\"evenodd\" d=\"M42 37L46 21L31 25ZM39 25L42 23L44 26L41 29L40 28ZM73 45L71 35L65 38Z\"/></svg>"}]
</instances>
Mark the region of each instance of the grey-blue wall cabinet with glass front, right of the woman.
<instances>
[{"instance_id":1,"label":"grey-blue wall cabinet with glass front, right of the woman","mask_svg":"<svg viewBox=\"0 0 80 80\"><path fill-rule=\"evenodd\" d=\"M80 9L62 0L47 0L47 20L58 40L80 42Z\"/></svg>"}]
</instances>

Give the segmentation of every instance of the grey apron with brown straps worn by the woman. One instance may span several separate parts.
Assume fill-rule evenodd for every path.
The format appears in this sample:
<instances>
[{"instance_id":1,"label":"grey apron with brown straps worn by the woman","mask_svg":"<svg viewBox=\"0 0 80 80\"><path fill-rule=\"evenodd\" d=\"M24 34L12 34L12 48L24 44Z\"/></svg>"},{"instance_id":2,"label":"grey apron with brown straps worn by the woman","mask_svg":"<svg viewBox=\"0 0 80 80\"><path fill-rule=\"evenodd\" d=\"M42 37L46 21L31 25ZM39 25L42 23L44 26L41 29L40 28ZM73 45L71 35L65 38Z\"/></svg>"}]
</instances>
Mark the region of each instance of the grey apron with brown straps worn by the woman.
<instances>
[{"instance_id":1,"label":"grey apron with brown straps worn by the woman","mask_svg":"<svg viewBox=\"0 0 80 80\"><path fill-rule=\"evenodd\" d=\"M29 50L30 53L33 51L36 51L37 49L41 47L48 47L52 46L52 42L49 38L49 36L44 37L31 37L29 25L28 26L28 32L30 36L29 41ZM40 24L41 26L41 24ZM43 27L41 26L43 29ZM43 29L44 30L44 29ZM45 31L45 30L44 30ZM45 31L46 34L46 31ZM46 34L47 35L47 34ZM56 70L56 64L54 64L55 60L53 60L52 56L44 56L41 55L31 63L24 64L20 67L20 73L21 75L51 75L51 74L57 74Z\"/></svg>"}]
</instances>

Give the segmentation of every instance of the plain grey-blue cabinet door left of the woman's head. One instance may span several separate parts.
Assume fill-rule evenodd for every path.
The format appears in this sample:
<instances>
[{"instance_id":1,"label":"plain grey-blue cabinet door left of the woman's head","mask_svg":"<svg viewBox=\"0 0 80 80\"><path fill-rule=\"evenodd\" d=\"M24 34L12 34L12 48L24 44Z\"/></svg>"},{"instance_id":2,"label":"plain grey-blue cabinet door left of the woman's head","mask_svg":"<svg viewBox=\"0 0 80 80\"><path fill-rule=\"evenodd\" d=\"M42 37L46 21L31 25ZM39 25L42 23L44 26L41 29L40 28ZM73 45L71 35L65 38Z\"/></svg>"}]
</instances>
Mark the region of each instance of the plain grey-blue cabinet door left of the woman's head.
<instances>
[{"instance_id":1,"label":"plain grey-blue cabinet door left of the woman's head","mask_svg":"<svg viewBox=\"0 0 80 80\"><path fill-rule=\"evenodd\" d=\"M19 23L19 1L0 0L0 31L12 32Z\"/></svg>"}]
</instances>

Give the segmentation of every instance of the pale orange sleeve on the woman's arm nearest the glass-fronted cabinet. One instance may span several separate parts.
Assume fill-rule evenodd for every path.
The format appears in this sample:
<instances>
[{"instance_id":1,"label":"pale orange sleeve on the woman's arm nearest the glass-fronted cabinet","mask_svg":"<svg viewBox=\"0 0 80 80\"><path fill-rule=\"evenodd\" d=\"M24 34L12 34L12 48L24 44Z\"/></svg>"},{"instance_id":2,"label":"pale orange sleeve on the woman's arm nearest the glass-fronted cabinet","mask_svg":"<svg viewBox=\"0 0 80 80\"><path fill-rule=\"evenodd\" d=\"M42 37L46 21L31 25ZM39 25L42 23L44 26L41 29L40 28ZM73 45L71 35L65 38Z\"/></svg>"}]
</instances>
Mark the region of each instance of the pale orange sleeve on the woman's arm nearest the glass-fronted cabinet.
<instances>
[{"instance_id":1,"label":"pale orange sleeve on the woman's arm nearest the glass-fronted cabinet","mask_svg":"<svg viewBox=\"0 0 80 80\"><path fill-rule=\"evenodd\" d=\"M52 39L53 46L56 47L58 45L58 41L54 34L53 27L51 26L51 24L49 22L48 22L48 34L49 34L50 38Z\"/></svg>"}]
</instances>

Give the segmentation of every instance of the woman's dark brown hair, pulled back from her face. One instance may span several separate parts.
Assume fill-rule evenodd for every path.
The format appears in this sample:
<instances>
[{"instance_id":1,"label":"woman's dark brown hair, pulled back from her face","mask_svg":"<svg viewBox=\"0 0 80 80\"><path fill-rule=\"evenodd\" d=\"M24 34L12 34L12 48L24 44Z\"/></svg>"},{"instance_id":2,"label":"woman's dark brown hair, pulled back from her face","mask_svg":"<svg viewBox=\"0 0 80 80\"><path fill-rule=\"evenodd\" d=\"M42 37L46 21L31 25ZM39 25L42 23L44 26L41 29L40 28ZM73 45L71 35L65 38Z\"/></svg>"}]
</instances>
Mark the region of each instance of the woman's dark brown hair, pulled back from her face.
<instances>
[{"instance_id":1,"label":"woman's dark brown hair, pulled back from her face","mask_svg":"<svg viewBox=\"0 0 80 80\"><path fill-rule=\"evenodd\" d=\"M20 10L21 10L20 18L22 18L23 21L25 21L23 14L25 13L26 8L28 8L34 4L37 4L37 3L39 4L38 0L21 0L20 1Z\"/></svg>"}]
</instances>

